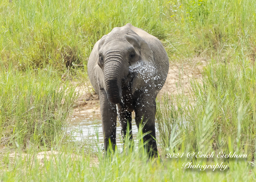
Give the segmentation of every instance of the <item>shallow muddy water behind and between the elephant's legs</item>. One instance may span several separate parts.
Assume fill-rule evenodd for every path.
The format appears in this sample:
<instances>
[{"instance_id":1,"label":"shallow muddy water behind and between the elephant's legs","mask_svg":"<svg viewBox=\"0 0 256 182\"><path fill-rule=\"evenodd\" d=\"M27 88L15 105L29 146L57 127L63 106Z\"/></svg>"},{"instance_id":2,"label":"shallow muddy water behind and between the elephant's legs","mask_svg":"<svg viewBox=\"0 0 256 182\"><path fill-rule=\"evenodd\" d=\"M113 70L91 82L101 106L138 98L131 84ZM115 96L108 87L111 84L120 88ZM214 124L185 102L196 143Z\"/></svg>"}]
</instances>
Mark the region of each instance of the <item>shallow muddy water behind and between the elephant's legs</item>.
<instances>
[{"instance_id":1,"label":"shallow muddy water behind and between the elephant's legs","mask_svg":"<svg viewBox=\"0 0 256 182\"><path fill-rule=\"evenodd\" d=\"M74 113L69 123L68 132L71 132L72 136L77 141L84 141L87 139L95 140L95 142L98 141L97 143L99 146L104 143L100 114ZM137 133L138 128L134 120L134 113L132 113L132 134L134 141L136 141ZM158 135L157 129L156 134ZM118 119L116 128L116 144L118 149L122 151L123 141L121 135L121 127Z\"/></svg>"}]
</instances>

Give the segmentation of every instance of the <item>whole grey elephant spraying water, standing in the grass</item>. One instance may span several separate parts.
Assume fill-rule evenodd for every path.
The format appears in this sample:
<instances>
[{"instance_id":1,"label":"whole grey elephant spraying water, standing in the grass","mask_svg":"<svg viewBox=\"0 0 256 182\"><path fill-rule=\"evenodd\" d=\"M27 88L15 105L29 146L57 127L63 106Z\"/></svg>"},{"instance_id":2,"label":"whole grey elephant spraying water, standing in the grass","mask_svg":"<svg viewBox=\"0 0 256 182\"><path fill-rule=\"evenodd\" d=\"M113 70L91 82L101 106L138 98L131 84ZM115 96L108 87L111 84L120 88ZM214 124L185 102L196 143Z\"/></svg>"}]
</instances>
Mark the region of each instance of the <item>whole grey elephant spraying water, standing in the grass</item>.
<instances>
[{"instance_id":1,"label":"whole grey elephant spraying water, standing in the grass","mask_svg":"<svg viewBox=\"0 0 256 182\"><path fill-rule=\"evenodd\" d=\"M143 120L147 152L156 157L156 96L169 70L168 55L161 41L130 23L115 27L95 43L87 69L100 98L105 151L109 141L115 149L117 115L124 139L134 111L138 128ZM128 133L133 140L132 131Z\"/></svg>"}]
</instances>

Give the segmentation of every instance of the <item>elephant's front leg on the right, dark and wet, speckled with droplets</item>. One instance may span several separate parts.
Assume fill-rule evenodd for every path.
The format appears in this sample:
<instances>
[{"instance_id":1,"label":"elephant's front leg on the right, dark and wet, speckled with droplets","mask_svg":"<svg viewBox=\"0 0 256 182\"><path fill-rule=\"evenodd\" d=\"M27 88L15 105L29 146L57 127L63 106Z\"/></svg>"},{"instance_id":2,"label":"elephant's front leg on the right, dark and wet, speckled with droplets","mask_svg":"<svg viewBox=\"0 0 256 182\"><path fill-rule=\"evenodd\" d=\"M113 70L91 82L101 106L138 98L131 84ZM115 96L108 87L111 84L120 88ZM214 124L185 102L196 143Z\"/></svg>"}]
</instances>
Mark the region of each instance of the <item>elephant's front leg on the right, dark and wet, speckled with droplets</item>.
<instances>
[{"instance_id":1,"label":"elephant's front leg on the right, dark and wet, speckled with droplets","mask_svg":"<svg viewBox=\"0 0 256 182\"><path fill-rule=\"evenodd\" d=\"M156 112L156 97L141 91L136 101L135 106L135 121L136 125L143 126L142 133L150 132L143 137L143 142L148 142L147 152L150 157L157 157L156 145L156 130L155 130L155 112ZM141 120L143 119L142 123Z\"/></svg>"}]
</instances>

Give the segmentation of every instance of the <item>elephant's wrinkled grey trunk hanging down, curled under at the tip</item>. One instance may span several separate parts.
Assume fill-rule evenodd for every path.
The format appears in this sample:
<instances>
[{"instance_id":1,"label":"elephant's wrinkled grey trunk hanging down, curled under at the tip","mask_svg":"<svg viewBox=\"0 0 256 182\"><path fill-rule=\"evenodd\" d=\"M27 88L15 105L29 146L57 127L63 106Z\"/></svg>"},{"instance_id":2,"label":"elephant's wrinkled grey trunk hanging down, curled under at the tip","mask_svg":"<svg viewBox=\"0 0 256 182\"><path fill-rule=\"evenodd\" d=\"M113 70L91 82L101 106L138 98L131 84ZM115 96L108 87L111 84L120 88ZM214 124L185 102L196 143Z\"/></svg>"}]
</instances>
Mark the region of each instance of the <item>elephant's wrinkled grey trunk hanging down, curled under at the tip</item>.
<instances>
[{"instance_id":1,"label":"elephant's wrinkled grey trunk hanging down, curled under at the tip","mask_svg":"<svg viewBox=\"0 0 256 182\"><path fill-rule=\"evenodd\" d=\"M112 53L112 54L111 54ZM122 64L121 55L113 55L110 52L106 56L106 61L104 63L104 80L106 86L106 93L111 103L118 104L121 102L122 98Z\"/></svg>"}]
</instances>

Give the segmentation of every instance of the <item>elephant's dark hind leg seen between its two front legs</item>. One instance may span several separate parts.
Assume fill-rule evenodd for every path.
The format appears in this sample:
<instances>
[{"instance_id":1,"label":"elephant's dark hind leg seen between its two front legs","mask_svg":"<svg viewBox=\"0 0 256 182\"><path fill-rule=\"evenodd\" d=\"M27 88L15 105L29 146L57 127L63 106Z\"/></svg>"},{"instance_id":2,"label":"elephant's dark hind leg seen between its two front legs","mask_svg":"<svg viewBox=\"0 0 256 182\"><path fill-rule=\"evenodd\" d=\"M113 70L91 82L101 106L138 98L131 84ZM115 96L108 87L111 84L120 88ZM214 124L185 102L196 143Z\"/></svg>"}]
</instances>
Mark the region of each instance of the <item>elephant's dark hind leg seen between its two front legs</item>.
<instances>
[{"instance_id":1,"label":"elephant's dark hind leg seen between its two front legs","mask_svg":"<svg viewBox=\"0 0 256 182\"><path fill-rule=\"evenodd\" d=\"M131 130L131 112L127 111L126 109L122 109L120 105L118 105L118 119L120 121L120 126L122 128L122 136L123 136L123 142L125 143L125 138L127 134L127 129L129 127L128 131L128 137L130 140L132 140L132 130Z\"/></svg>"}]
</instances>

